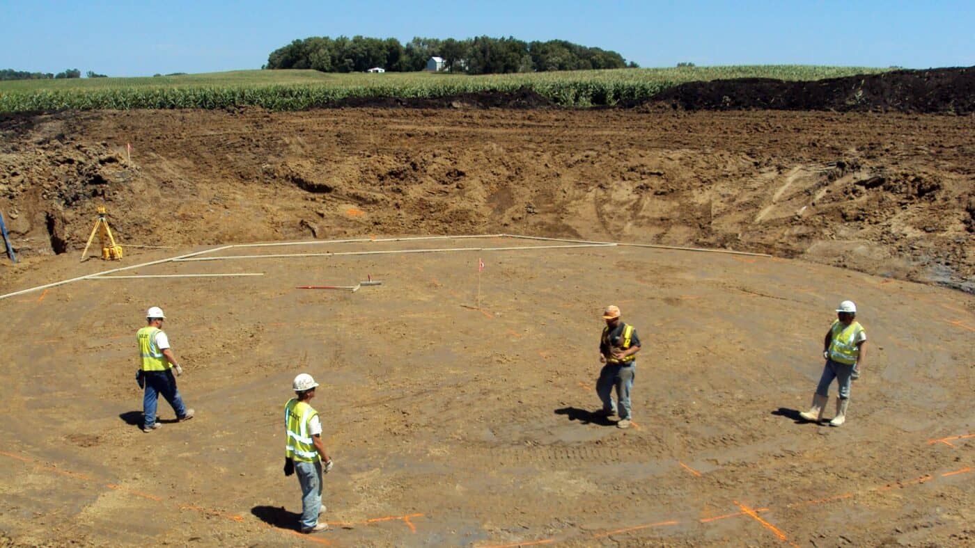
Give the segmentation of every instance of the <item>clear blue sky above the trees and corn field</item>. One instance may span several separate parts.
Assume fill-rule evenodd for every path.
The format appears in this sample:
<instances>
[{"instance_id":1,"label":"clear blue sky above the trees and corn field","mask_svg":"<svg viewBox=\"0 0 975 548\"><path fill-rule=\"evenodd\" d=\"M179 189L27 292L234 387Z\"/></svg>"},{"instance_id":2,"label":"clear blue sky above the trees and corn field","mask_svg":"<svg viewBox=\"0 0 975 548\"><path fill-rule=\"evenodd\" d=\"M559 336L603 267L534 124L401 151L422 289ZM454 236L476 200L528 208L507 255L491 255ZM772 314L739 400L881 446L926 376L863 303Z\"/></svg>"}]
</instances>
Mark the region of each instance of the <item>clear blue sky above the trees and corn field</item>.
<instances>
[{"instance_id":1,"label":"clear blue sky above the trees and corn field","mask_svg":"<svg viewBox=\"0 0 975 548\"><path fill-rule=\"evenodd\" d=\"M644 67L975 65L975 0L0 0L0 68L109 76L260 68L308 36L563 39Z\"/></svg>"}]
</instances>

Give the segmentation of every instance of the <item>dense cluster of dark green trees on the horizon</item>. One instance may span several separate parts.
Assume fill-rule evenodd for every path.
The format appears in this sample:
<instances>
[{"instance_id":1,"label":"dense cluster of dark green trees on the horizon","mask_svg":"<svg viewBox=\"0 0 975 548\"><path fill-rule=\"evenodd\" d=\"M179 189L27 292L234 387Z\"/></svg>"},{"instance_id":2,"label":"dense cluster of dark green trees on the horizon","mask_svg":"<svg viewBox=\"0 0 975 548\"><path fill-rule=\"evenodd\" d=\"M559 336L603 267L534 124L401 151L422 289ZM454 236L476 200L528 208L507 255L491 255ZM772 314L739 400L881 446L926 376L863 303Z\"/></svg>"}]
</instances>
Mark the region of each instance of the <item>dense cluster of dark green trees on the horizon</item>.
<instances>
[{"instance_id":1,"label":"dense cluster of dark green trees on the horizon","mask_svg":"<svg viewBox=\"0 0 975 548\"><path fill-rule=\"evenodd\" d=\"M432 56L443 57L447 70L469 74L544 72L636 67L622 55L565 40L525 42L513 37L479 36L465 40L413 38L405 46L396 38L313 36L295 40L268 55L262 68L311 68L322 72L423 70Z\"/></svg>"}]
</instances>

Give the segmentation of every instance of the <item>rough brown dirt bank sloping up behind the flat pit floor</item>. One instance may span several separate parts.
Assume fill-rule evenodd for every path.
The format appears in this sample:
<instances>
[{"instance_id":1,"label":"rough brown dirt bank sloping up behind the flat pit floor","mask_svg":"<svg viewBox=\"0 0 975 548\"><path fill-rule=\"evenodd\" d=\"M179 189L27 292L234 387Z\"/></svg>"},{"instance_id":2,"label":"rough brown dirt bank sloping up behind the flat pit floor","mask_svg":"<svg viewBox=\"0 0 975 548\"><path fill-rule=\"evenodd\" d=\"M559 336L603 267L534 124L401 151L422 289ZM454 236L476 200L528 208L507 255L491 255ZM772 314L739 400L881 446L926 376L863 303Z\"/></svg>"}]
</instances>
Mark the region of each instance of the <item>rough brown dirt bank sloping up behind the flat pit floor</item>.
<instances>
[{"instance_id":1,"label":"rough brown dirt bank sloping up behind the flat pit floor","mask_svg":"<svg viewBox=\"0 0 975 548\"><path fill-rule=\"evenodd\" d=\"M58 113L0 125L0 209L25 258L78 252L105 203L128 244L511 232L726 246L971 291L973 129L669 109Z\"/></svg>"}]
</instances>

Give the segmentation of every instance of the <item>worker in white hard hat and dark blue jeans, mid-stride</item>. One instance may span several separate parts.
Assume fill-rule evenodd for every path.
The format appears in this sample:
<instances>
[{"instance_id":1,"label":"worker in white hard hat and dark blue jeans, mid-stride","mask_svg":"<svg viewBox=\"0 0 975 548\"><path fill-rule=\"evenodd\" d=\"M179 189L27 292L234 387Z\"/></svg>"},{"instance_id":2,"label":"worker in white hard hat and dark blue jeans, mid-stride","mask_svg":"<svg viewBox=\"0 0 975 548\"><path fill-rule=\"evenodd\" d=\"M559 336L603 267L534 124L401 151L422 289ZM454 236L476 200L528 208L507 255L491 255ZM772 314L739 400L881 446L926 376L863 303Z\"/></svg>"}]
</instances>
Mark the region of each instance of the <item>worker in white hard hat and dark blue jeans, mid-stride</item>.
<instances>
[{"instance_id":1,"label":"worker in white hard hat and dark blue jeans, mid-stride","mask_svg":"<svg viewBox=\"0 0 975 548\"><path fill-rule=\"evenodd\" d=\"M159 307L152 307L145 312L145 319L148 325L139 329L136 333L138 342L138 354L141 359L141 366L136 374L136 380L140 388L144 388L142 394L142 413L145 416L142 422L142 431L151 432L162 424L156 421L156 404L159 401L159 394L163 394L166 401L173 406L176 413L176 420L190 420L193 418L193 410L186 409L183 404L182 396L176 388L176 378L173 377L173 370L176 375L182 375L182 367L176 363L176 356L170 347L170 339L166 333L160 329L166 316Z\"/></svg>"}]
</instances>

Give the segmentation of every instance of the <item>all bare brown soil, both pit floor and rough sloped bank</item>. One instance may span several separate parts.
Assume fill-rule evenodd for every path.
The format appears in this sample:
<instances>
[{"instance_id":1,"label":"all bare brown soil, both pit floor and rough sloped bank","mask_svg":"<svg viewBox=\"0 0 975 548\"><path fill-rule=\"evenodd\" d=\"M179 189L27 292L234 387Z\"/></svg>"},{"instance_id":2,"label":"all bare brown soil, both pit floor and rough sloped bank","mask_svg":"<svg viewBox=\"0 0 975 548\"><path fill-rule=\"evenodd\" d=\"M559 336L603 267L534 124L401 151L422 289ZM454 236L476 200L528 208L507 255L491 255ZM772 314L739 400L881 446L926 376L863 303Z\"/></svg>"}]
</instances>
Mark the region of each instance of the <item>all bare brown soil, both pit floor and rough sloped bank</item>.
<instances>
[{"instance_id":1,"label":"all bare brown soil, both pit floor and rough sloped bank","mask_svg":"<svg viewBox=\"0 0 975 548\"><path fill-rule=\"evenodd\" d=\"M548 243L315 242L503 232L775 257L616 246L178 262L121 274L264 275L0 300L0 544L975 541L975 297L916 282L972 290L971 117L242 109L3 128L0 210L23 261L0 261L0 294L256 240L307 242L221 253ZM102 202L123 244L174 248L79 263ZM383 284L294 289L368 274ZM870 338L850 419L799 423L847 298ZM629 430L589 414L609 303L644 346ZM143 434L134 333L151 305L167 311L198 417L171 422L163 403L167 423ZM289 532L299 492L281 473L300 371L323 384L327 517L344 524L313 538Z\"/></svg>"}]
</instances>

